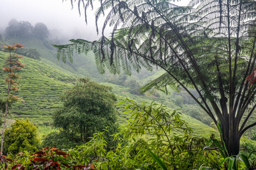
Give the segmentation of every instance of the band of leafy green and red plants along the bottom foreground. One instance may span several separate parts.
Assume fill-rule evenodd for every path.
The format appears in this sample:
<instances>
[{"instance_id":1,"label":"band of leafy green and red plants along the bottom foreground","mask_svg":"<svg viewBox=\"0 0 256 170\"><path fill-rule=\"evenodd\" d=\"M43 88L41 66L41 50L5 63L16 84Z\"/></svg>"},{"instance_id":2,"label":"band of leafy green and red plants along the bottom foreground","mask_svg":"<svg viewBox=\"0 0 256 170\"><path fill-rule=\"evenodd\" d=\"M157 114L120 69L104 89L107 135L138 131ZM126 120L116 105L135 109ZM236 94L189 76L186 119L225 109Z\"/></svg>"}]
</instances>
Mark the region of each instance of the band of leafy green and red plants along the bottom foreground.
<instances>
[{"instance_id":1,"label":"band of leafy green and red plants along the bottom foreground","mask_svg":"<svg viewBox=\"0 0 256 170\"><path fill-rule=\"evenodd\" d=\"M226 149L214 137L193 137L193 130L178 111L169 112L156 103L130 99L126 113L132 116L114 134L117 145L109 148L107 130L96 132L91 140L63 152L46 147L34 154L9 154L1 166L8 169L252 169L251 153L225 157ZM179 133L175 134L174 131ZM151 140L143 140L144 135ZM72 157L71 157L72 156ZM230 164L232 162L232 164ZM6 163L6 164L5 164Z\"/></svg>"}]
</instances>

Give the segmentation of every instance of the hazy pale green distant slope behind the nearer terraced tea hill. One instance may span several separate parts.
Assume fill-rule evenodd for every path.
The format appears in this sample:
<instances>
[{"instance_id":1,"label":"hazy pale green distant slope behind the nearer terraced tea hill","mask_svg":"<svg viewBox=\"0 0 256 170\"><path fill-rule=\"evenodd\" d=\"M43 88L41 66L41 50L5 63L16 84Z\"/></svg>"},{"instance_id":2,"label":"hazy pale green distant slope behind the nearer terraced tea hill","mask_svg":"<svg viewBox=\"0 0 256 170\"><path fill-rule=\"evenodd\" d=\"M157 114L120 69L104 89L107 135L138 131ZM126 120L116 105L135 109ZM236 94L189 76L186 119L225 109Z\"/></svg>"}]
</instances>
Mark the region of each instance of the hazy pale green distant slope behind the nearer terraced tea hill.
<instances>
[{"instance_id":1,"label":"hazy pale green distant slope behind the nearer terraced tea hill","mask_svg":"<svg viewBox=\"0 0 256 170\"><path fill-rule=\"evenodd\" d=\"M6 44L12 45L15 42L25 45L24 48L36 48L41 55L41 61L73 77L90 77L95 81L102 81L105 75L97 72L95 59L92 53L87 55L75 55L73 63L67 59L65 62L57 59L57 50L52 46L53 42L48 40L39 40L38 38L18 38L6 41ZM1 45L1 44L0 44ZM92 76L93 75L93 76Z\"/></svg>"}]
</instances>

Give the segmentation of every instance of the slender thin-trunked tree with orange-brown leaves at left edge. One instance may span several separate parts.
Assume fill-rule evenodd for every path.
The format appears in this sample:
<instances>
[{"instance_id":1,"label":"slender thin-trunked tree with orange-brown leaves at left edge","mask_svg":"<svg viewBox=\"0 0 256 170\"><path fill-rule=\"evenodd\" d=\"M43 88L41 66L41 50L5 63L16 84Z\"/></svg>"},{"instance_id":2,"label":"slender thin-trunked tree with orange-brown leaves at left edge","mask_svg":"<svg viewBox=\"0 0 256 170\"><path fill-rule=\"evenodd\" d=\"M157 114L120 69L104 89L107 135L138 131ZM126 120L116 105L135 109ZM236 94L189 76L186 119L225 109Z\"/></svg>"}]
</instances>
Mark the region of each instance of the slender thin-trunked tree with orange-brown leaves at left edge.
<instances>
[{"instance_id":1,"label":"slender thin-trunked tree with orange-brown leaves at left edge","mask_svg":"<svg viewBox=\"0 0 256 170\"><path fill-rule=\"evenodd\" d=\"M23 101L22 98L19 98L18 96L14 95L15 91L18 91L18 79L21 77L18 75L18 70L20 70L22 67L26 66L25 64L22 64L19 59L22 57L19 55L16 55L16 50L19 48L24 47L24 45L20 44L14 44L13 46L3 46L4 51L9 52L9 57L6 58L6 63L4 63L4 67L2 70L6 73L6 77L4 78L4 82L7 84L7 94L6 94L6 101L5 106L3 108L4 113L4 124L3 129L1 133L1 153L3 152L4 147L4 130L6 128L6 118L9 112L9 108L11 107L11 103L14 101Z\"/></svg>"}]
</instances>

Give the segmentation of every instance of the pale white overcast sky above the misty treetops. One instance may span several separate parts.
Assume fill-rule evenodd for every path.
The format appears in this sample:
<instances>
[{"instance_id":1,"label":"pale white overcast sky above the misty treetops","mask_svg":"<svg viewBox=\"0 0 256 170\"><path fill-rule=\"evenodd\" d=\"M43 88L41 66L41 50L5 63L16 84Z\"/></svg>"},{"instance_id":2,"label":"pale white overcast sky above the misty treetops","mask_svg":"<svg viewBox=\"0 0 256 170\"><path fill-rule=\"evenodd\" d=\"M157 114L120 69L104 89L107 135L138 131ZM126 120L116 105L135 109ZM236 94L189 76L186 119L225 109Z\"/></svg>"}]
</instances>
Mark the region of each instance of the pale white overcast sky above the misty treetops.
<instances>
[{"instance_id":1,"label":"pale white overcast sky above the misty treetops","mask_svg":"<svg viewBox=\"0 0 256 170\"><path fill-rule=\"evenodd\" d=\"M186 5L188 0L178 1L178 5ZM88 17L79 16L78 6L71 10L70 0L0 0L0 32L9 21L28 21L33 26L45 23L48 29L58 29L74 38L91 39L95 37L95 17L93 12Z\"/></svg>"}]
</instances>

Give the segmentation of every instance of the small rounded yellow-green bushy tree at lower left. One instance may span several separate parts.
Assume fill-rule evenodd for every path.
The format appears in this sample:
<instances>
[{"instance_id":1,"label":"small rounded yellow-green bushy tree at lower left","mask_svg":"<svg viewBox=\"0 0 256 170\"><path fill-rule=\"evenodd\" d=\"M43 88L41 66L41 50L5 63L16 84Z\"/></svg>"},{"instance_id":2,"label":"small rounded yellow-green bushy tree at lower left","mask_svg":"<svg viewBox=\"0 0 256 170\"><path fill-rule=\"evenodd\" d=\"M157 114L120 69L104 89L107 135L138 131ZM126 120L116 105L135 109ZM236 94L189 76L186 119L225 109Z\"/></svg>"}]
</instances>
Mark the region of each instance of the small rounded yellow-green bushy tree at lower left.
<instances>
[{"instance_id":1,"label":"small rounded yellow-green bushy tree at lower left","mask_svg":"<svg viewBox=\"0 0 256 170\"><path fill-rule=\"evenodd\" d=\"M36 152L39 147L38 132L29 120L16 120L4 132L4 153Z\"/></svg>"}]
</instances>

